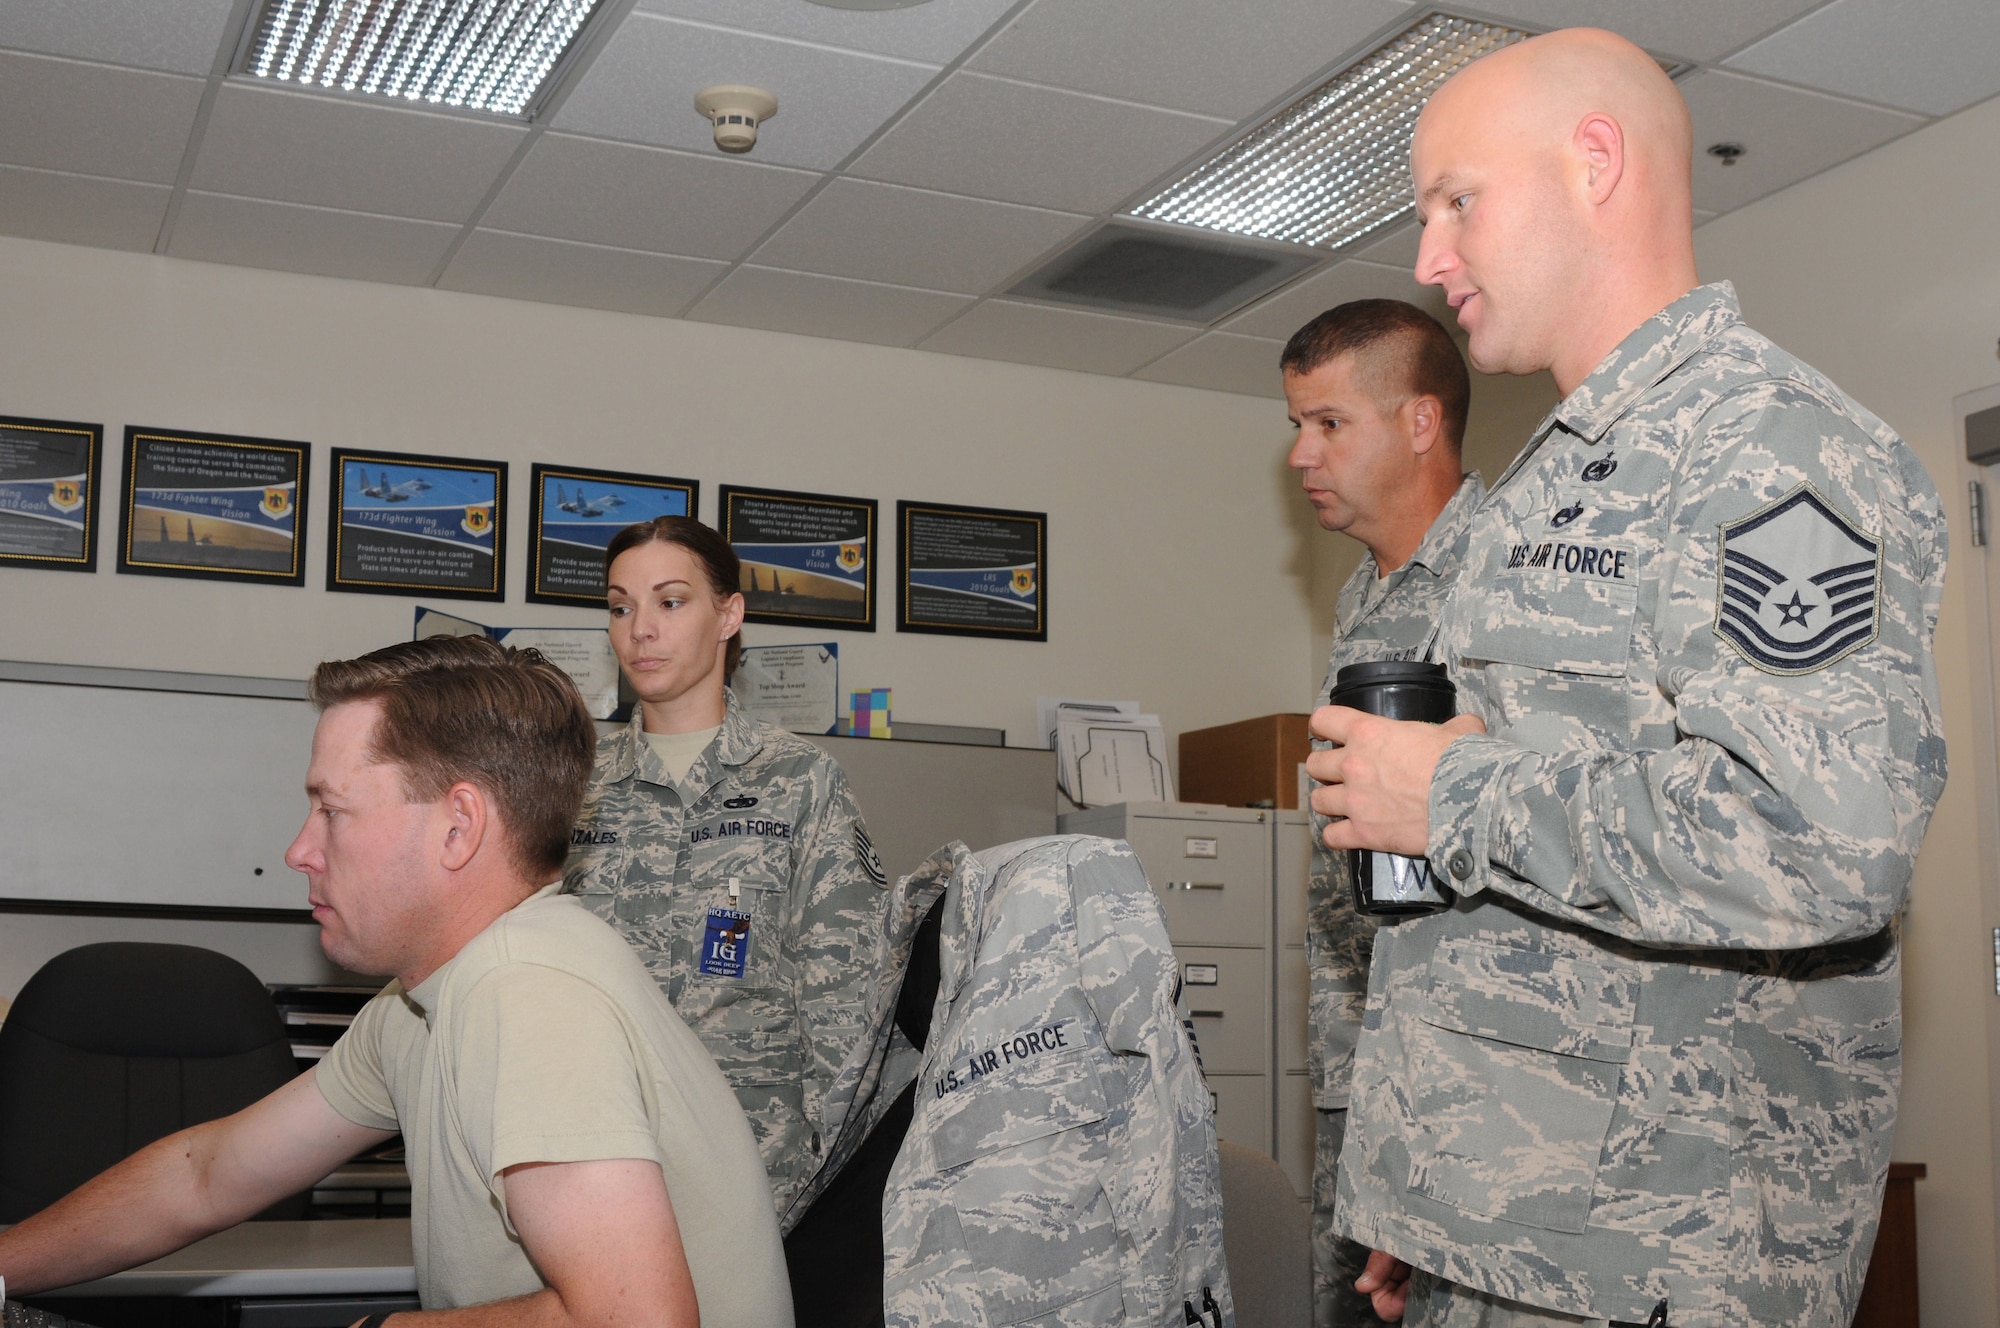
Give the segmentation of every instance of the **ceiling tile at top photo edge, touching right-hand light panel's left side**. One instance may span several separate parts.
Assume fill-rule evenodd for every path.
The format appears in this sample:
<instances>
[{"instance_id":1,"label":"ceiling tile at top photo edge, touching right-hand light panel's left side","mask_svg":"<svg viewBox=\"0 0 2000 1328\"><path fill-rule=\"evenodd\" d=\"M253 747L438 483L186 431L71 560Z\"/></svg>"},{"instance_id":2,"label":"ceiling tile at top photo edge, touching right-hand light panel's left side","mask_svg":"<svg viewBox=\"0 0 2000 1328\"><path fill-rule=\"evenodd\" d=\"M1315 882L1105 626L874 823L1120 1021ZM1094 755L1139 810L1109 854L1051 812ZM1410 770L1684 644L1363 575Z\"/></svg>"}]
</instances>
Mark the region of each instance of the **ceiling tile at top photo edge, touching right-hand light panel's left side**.
<instances>
[{"instance_id":1,"label":"ceiling tile at top photo edge, touching right-hand light panel's left side","mask_svg":"<svg viewBox=\"0 0 2000 1328\"><path fill-rule=\"evenodd\" d=\"M1404 0L1036 0L968 68L1242 120L1410 12Z\"/></svg>"}]
</instances>

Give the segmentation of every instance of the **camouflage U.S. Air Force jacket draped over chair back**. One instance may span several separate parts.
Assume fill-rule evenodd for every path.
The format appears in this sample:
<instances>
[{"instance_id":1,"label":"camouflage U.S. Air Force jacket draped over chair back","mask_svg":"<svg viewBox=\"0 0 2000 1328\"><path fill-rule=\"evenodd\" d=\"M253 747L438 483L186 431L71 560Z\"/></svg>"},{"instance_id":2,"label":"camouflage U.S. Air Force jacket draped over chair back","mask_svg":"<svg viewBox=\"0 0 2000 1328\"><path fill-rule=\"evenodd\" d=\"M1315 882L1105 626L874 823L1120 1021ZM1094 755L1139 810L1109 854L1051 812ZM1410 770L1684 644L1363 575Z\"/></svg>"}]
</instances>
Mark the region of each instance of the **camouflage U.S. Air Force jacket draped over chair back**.
<instances>
[{"instance_id":1,"label":"camouflage U.S. Air Force jacket draped over chair back","mask_svg":"<svg viewBox=\"0 0 2000 1328\"><path fill-rule=\"evenodd\" d=\"M888 1326L1232 1324L1208 1084L1138 858L1092 836L954 844L898 900L944 882L882 1200Z\"/></svg>"}]
</instances>

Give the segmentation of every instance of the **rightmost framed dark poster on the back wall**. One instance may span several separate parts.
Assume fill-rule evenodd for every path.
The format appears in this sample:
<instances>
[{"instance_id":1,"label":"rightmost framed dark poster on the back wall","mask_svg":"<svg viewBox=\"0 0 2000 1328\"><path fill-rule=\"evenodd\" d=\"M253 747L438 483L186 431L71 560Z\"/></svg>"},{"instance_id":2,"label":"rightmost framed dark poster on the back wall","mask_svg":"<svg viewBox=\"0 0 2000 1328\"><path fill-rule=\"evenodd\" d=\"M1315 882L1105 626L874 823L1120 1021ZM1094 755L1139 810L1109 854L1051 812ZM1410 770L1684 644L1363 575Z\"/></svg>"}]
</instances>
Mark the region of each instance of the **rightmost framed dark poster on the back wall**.
<instances>
[{"instance_id":1,"label":"rightmost framed dark poster on the back wall","mask_svg":"<svg viewBox=\"0 0 2000 1328\"><path fill-rule=\"evenodd\" d=\"M898 502L896 630L1048 640L1048 512Z\"/></svg>"}]
</instances>

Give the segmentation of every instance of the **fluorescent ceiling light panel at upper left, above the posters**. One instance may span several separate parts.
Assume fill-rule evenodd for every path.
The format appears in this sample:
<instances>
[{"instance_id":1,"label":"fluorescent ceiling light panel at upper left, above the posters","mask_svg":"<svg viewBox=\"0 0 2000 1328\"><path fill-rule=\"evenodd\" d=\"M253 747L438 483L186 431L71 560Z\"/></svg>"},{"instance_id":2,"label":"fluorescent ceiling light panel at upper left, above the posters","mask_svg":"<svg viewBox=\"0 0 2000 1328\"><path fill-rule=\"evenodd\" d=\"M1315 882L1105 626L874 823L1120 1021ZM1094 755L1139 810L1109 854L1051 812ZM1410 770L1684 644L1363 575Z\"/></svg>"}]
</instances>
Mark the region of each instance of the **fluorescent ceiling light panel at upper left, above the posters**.
<instances>
[{"instance_id":1,"label":"fluorescent ceiling light panel at upper left, above the posters","mask_svg":"<svg viewBox=\"0 0 2000 1328\"><path fill-rule=\"evenodd\" d=\"M518 116L598 0L268 0L242 72Z\"/></svg>"}]
</instances>

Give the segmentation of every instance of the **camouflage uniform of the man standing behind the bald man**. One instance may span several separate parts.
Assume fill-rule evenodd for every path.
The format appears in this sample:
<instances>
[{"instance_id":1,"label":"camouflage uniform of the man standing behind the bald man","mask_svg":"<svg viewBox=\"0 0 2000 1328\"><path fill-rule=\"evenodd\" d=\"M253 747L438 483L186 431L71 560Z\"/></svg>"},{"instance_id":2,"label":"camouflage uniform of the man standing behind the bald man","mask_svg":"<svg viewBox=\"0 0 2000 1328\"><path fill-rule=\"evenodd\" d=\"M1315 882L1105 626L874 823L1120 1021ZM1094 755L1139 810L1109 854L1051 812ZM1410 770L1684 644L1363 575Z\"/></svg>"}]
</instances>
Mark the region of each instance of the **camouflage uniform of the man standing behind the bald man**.
<instances>
[{"instance_id":1,"label":"camouflage uniform of the man standing behind the bald man","mask_svg":"<svg viewBox=\"0 0 2000 1328\"><path fill-rule=\"evenodd\" d=\"M1472 510L1486 496L1478 474L1468 474L1458 492L1430 522L1424 542L1406 564L1380 576L1374 554L1340 588L1334 604L1334 648L1326 656L1326 680L1314 706L1334 692L1334 678L1348 664L1370 660L1420 660L1438 632L1438 610L1458 576L1466 552ZM1312 740L1314 750L1326 742ZM1366 1250L1334 1236L1334 1168L1340 1164L1340 1134L1354 1072L1354 1040L1362 1030L1368 1002L1368 952L1376 924L1354 910L1354 880L1348 856L1326 848L1326 818L1312 812L1312 868L1306 882L1306 966L1310 1006L1306 1074L1312 1080L1312 1322L1318 1328L1380 1322L1368 1298L1354 1290Z\"/></svg>"}]
</instances>

